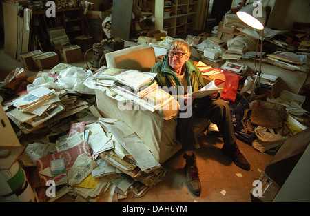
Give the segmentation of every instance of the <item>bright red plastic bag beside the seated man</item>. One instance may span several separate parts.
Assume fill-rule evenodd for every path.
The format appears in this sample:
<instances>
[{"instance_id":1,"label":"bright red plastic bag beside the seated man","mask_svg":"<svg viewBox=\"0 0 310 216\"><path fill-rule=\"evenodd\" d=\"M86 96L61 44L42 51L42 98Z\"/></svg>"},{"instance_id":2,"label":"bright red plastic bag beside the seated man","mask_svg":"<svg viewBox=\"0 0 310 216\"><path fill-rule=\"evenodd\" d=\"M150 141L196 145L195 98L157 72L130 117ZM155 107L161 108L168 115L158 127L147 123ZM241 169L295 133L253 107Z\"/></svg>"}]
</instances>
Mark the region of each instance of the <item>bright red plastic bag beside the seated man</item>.
<instances>
[{"instance_id":1,"label":"bright red plastic bag beside the seated man","mask_svg":"<svg viewBox=\"0 0 310 216\"><path fill-rule=\"evenodd\" d=\"M223 74L225 75L225 84L223 87L222 99L234 102L237 96L239 80L242 79L242 77L234 72L230 72L222 68L215 69L223 70Z\"/></svg>"}]
</instances>

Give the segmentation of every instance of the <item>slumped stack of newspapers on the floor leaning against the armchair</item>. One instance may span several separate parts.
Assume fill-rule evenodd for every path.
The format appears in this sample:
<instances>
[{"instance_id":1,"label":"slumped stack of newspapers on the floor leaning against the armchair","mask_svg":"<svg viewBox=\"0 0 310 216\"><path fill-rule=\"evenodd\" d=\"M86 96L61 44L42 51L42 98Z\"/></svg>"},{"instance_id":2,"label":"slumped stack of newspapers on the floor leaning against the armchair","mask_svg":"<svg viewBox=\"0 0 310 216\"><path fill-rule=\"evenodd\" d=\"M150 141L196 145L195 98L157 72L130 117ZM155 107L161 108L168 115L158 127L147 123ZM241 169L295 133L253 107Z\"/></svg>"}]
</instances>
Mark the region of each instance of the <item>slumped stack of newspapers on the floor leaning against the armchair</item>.
<instances>
[{"instance_id":1,"label":"slumped stack of newspapers on the floor leaning against the armchair","mask_svg":"<svg viewBox=\"0 0 310 216\"><path fill-rule=\"evenodd\" d=\"M85 125L84 135L97 166L83 181L93 181L94 186L86 188L90 185L86 182L74 185L71 190L75 193L93 198L112 186L112 194L118 199L125 199L130 193L141 197L163 179L165 170L127 124L99 118L96 123ZM94 194L94 190L100 193Z\"/></svg>"}]
</instances>

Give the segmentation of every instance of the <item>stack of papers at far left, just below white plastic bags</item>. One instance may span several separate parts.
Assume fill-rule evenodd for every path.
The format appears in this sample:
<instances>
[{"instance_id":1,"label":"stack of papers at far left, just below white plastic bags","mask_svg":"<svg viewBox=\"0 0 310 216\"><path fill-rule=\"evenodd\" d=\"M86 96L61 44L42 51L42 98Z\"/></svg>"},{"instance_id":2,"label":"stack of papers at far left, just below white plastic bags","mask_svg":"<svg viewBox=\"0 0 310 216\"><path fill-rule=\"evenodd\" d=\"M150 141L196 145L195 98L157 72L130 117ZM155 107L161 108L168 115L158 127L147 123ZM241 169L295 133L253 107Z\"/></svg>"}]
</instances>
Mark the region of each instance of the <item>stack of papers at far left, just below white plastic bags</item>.
<instances>
[{"instance_id":1,"label":"stack of papers at far left, just below white plastic bags","mask_svg":"<svg viewBox=\"0 0 310 216\"><path fill-rule=\"evenodd\" d=\"M17 98L6 101L6 114L25 134L64 119L90 105L66 90L45 87L24 91Z\"/></svg>"}]
</instances>

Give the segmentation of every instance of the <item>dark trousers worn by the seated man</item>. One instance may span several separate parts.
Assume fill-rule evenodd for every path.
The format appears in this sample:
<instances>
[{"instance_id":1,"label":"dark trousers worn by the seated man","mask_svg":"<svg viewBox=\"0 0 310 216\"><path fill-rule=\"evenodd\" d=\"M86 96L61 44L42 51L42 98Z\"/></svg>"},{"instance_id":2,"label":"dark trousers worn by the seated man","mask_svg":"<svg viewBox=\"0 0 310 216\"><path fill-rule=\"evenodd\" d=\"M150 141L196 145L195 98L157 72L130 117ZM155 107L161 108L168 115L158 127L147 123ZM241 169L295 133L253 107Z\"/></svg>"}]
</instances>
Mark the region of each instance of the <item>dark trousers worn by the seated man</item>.
<instances>
[{"instance_id":1,"label":"dark trousers worn by the seated man","mask_svg":"<svg viewBox=\"0 0 310 216\"><path fill-rule=\"evenodd\" d=\"M220 135L223 137L223 148L235 149L236 137L234 134L234 126L231 122L230 109L228 104L221 100L195 99L198 100L196 108L193 108L190 117L178 117L178 126L176 128L176 136L183 146L183 150L194 150L196 142L194 135L194 118L207 117L212 123L218 126ZM186 112L186 110L180 110Z\"/></svg>"}]
</instances>

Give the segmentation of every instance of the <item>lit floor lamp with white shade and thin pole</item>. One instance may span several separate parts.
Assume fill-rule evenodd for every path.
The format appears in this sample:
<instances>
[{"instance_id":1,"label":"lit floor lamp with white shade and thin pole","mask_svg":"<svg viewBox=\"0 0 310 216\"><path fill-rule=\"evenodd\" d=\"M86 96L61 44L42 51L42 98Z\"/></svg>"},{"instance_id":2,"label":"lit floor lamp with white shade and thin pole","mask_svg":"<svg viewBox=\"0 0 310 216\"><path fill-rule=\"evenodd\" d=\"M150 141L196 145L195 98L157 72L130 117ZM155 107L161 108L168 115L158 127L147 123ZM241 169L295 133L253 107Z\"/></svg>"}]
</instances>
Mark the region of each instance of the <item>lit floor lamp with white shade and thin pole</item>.
<instances>
[{"instance_id":1,"label":"lit floor lamp with white shade and thin pole","mask_svg":"<svg viewBox=\"0 0 310 216\"><path fill-rule=\"evenodd\" d=\"M260 79L260 74L262 73L262 40L264 37L264 25L266 22L266 8L262 5L261 1L254 1L254 3L251 3L243 8L241 8L237 12L237 16L241 21L246 23L248 26L251 26L252 28L255 28L257 30L261 30L262 32L262 38L261 38L261 44L260 44L260 66L258 71L256 71L256 77L254 79L254 84L251 89L251 95L249 97L249 102L251 101L254 88L256 86L256 82Z\"/></svg>"}]
</instances>

